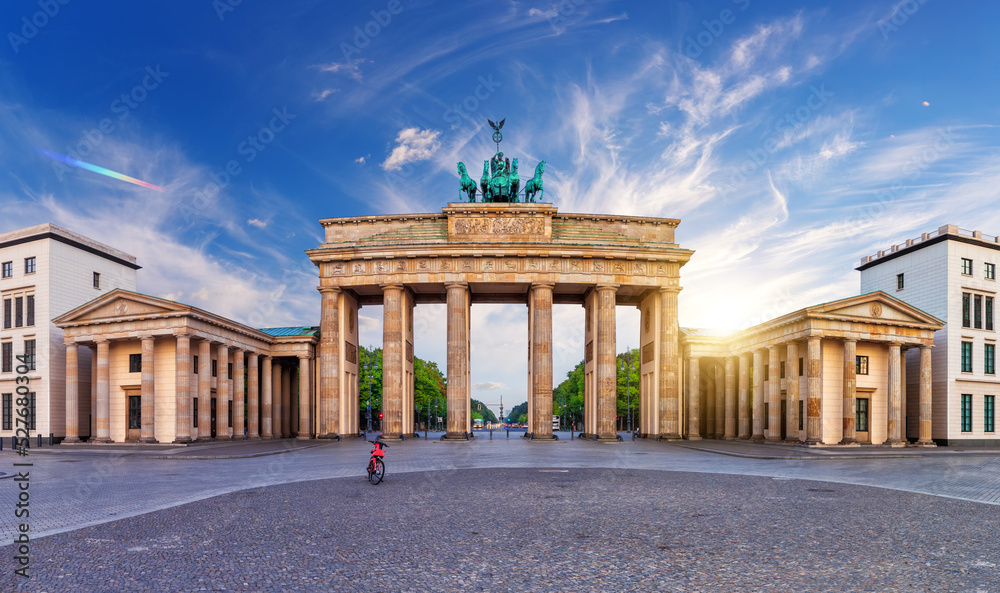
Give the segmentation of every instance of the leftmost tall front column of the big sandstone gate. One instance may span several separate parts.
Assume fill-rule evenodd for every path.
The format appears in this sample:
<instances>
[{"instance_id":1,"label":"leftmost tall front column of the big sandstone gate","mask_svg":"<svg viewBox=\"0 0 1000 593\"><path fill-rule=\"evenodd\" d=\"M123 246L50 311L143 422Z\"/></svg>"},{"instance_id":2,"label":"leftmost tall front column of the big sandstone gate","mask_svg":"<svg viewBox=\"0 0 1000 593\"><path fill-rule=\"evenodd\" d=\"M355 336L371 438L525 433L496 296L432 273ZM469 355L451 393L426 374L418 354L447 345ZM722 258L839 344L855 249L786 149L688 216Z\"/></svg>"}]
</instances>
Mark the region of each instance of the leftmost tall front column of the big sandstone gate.
<instances>
[{"instance_id":1,"label":"leftmost tall front column of the big sandstone gate","mask_svg":"<svg viewBox=\"0 0 1000 593\"><path fill-rule=\"evenodd\" d=\"M316 434L340 434L340 289L321 286L319 339L319 411ZM275 401L280 398L275 395ZM275 425L277 428L277 425Z\"/></svg>"}]
</instances>

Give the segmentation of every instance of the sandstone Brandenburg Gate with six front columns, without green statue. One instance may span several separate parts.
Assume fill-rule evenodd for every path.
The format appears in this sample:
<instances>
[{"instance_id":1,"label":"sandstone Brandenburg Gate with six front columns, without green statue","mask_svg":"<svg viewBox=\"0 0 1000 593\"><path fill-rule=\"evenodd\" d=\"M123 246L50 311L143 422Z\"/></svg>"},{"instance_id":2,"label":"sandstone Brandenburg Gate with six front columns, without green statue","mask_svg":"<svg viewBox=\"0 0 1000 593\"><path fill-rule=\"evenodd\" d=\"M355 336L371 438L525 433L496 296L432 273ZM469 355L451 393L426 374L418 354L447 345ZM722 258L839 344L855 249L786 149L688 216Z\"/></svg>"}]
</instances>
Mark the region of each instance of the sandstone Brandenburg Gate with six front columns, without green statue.
<instances>
[{"instance_id":1,"label":"sandstone Brandenburg Gate with six front columns, without green statue","mask_svg":"<svg viewBox=\"0 0 1000 593\"><path fill-rule=\"evenodd\" d=\"M638 307L639 431L681 438L677 296L680 268L693 252L674 242L679 220L565 214L548 203L494 199L451 203L433 214L320 222L324 243L307 251L319 267L322 294L320 438L359 431L358 309L377 304L383 306L383 438L415 432L413 308L420 303L447 304L445 438L471 432L474 303L528 306L528 431L535 439L553 438L552 305L585 308L584 433L599 439L617 438L615 306Z\"/></svg>"}]
</instances>

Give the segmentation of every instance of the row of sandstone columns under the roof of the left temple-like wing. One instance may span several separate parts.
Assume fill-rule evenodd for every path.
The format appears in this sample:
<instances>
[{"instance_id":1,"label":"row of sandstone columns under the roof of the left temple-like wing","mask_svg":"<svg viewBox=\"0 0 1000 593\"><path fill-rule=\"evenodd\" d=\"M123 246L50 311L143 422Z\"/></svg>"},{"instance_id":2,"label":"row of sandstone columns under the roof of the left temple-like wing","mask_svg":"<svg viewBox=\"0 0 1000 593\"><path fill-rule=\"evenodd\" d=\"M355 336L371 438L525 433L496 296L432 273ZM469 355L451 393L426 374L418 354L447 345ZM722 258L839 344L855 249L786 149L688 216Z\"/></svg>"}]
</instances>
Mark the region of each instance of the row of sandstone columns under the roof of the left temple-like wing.
<instances>
[{"instance_id":1,"label":"row of sandstone columns under the roof of the left temple-like wing","mask_svg":"<svg viewBox=\"0 0 1000 593\"><path fill-rule=\"evenodd\" d=\"M111 428L111 345L135 338L98 337L90 344L66 342L66 438L80 441L79 352L84 345L93 351L91 385L91 438L89 442L112 442ZM175 340L173 365L157 365L157 342ZM194 339L195 344L192 344ZM208 336L176 333L170 336L146 334L141 342L141 427L139 442L156 443L156 383L162 368L173 368L174 431L168 442L273 439L297 436L312 438L312 381L309 354L273 356L263 350L244 349ZM192 346L197 354L192 354ZM213 359L214 354L214 359ZM197 367L195 367L197 360ZM215 363L213 365L213 363ZM231 366L230 366L231 365ZM231 369L231 370L230 370ZM214 370L214 372L213 372ZM297 372L296 372L297 371ZM246 380L244 381L244 376ZM213 389L214 383L214 389ZM297 394L297 396L296 396ZM215 426L212 402L216 403ZM162 407L161 407L162 411ZM128 407L125 406L128 414ZM162 421L162 419L161 419ZM128 418L125 418L128 433ZM212 436L213 428L215 436Z\"/></svg>"}]
</instances>

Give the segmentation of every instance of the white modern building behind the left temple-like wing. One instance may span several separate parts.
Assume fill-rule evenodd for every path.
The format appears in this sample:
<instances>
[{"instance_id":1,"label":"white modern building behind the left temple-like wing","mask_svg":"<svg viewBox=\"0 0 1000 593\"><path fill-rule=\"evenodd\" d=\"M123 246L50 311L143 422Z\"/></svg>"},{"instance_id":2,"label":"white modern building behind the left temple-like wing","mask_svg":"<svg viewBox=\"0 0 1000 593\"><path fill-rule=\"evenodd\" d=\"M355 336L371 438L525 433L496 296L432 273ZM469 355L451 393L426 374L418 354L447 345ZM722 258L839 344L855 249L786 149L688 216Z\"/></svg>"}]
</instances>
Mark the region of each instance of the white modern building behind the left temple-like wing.
<instances>
[{"instance_id":1,"label":"white modern building behind the left temple-like wing","mask_svg":"<svg viewBox=\"0 0 1000 593\"><path fill-rule=\"evenodd\" d=\"M0 438L14 435L17 356L27 356L31 434L63 436L62 329L50 320L115 289L135 290L134 256L54 224L0 234ZM77 380L89 383L89 353ZM73 386L70 386L73 389Z\"/></svg>"}]
</instances>

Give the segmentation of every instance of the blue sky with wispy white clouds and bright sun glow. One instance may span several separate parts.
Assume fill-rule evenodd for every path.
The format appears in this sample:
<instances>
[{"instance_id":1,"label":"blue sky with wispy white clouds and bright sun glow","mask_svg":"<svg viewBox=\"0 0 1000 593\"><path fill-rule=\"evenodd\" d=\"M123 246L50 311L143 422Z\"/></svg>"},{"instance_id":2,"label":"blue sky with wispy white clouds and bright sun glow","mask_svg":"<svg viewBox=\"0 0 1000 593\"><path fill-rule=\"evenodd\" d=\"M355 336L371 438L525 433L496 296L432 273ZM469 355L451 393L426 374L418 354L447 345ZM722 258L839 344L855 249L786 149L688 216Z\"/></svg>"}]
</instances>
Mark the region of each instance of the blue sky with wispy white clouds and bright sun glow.
<instances>
[{"instance_id":1,"label":"blue sky with wispy white clouds and bright sun glow","mask_svg":"<svg viewBox=\"0 0 1000 593\"><path fill-rule=\"evenodd\" d=\"M997 233L997 22L942 0L4 2L0 231L54 222L136 255L142 292L315 324L317 220L438 210L507 118L560 210L680 218L682 325L738 329L855 294L862 256L942 224ZM560 377L582 310L557 309ZM418 308L442 364L443 317ZM523 352L525 318L474 308L476 397L523 401L524 357L491 354ZM637 326L620 308L619 349Z\"/></svg>"}]
</instances>

